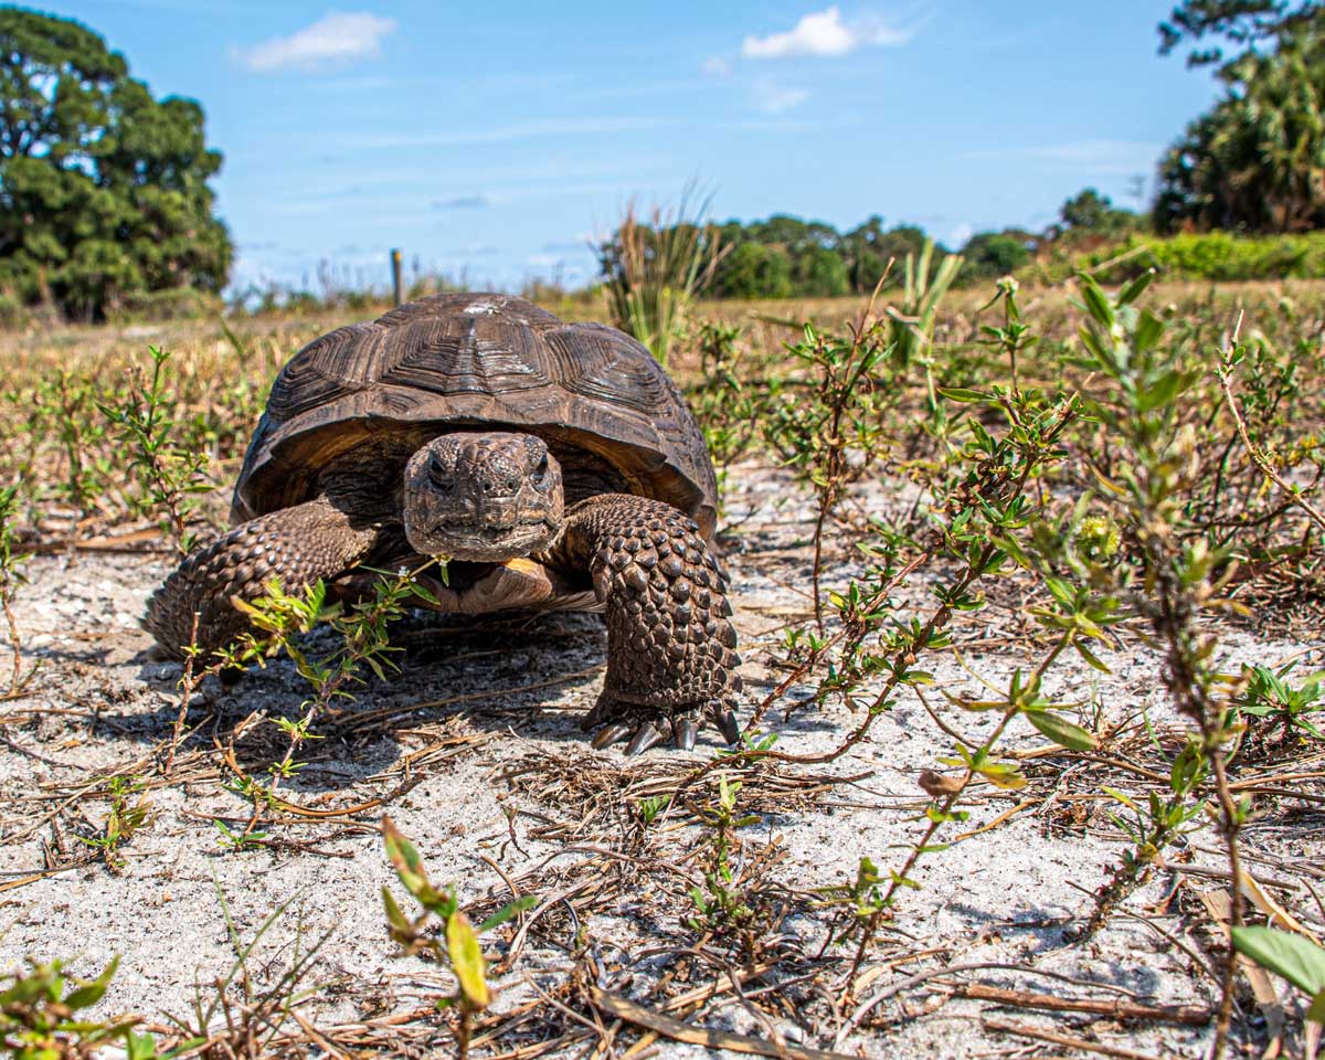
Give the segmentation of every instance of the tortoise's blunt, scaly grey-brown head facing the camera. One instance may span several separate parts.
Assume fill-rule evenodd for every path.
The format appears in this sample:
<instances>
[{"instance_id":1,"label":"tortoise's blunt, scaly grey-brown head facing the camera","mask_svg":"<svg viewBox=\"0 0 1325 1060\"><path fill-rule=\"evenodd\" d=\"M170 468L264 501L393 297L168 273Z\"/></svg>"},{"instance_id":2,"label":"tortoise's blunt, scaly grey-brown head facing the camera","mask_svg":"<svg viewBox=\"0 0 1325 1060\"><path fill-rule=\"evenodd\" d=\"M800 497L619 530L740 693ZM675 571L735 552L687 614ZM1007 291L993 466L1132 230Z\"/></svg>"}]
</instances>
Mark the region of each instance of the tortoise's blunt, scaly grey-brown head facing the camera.
<instances>
[{"instance_id":1,"label":"tortoise's blunt, scaly grey-brown head facing the camera","mask_svg":"<svg viewBox=\"0 0 1325 1060\"><path fill-rule=\"evenodd\" d=\"M405 465L405 537L424 555L530 555L553 545L563 511L560 465L534 435L443 435Z\"/></svg>"}]
</instances>

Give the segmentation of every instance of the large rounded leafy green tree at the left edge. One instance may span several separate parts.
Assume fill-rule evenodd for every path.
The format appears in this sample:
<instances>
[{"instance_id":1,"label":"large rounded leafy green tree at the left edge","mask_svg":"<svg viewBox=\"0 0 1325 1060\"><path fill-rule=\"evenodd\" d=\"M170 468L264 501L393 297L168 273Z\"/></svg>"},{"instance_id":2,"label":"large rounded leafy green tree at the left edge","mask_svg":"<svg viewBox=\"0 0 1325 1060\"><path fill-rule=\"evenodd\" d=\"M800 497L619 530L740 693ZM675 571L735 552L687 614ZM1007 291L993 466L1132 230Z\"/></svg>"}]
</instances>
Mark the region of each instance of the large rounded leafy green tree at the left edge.
<instances>
[{"instance_id":1,"label":"large rounded leafy green tree at the left edge","mask_svg":"<svg viewBox=\"0 0 1325 1060\"><path fill-rule=\"evenodd\" d=\"M203 123L86 26L0 9L0 288L89 319L142 292L219 292L233 248Z\"/></svg>"}]
</instances>

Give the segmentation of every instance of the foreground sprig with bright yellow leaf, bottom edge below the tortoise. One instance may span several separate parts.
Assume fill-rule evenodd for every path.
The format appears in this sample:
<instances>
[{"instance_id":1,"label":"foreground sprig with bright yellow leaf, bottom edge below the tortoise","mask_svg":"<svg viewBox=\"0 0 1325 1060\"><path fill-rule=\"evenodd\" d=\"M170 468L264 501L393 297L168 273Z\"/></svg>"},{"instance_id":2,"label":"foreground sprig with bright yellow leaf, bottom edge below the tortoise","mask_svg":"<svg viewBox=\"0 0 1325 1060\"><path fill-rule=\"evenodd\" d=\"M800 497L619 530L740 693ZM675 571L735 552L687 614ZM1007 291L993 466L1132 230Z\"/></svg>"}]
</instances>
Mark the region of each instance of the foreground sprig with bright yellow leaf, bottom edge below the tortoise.
<instances>
[{"instance_id":1,"label":"foreground sprig with bright yellow leaf, bottom edge below the tortoise","mask_svg":"<svg viewBox=\"0 0 1325 1060\"><path fill-rule=\"evenodd\" d=\"M492 1003L493 994L478 935L537 905L538 898L531 894L519 897L502 906L476 929L460 909L454 888L447 886L439 890L428 881L419 851L391 823L391 818L382 819L382 839L396 877L424 910L416 920L409 920L391 896L391 890L383 886L382 904L387 912L391 938L400 943L407 955L427 953L439 965L449 963L456 977L456 992L440 998L437 1008L454 1008L460 1014L457 1044L460 1056L465 1057L469 1053L473 1019ZM433 916L441 920L445 945L428 930L428 922Z\"/></svg>"}]
</instances>

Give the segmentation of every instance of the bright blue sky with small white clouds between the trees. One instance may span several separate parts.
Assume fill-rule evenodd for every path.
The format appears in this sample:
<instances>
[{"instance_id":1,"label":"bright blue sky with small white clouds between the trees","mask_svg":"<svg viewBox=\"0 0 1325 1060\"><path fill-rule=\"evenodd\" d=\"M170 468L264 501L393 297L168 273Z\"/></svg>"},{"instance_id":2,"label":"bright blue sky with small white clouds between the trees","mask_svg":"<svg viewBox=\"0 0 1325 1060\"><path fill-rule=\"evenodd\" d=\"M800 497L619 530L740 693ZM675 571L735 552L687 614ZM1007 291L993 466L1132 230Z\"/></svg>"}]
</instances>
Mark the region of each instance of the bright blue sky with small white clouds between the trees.
<instances>
[{"instance_id":1,"label":"bright blue sky with small white clouds between the trees","mask_svg":"<svg viewBox=\"0 0 1325 1060\"><path fill-rule=\"evenodd\" d=\"M1173 0L494 5L68 0L225 152L235 282L382 282L387 250L518 288L592 273L632 196L718 220L871 213L959 244L1138 204L1216 95L1161 58Z\"/></svg>"}]
</instances>

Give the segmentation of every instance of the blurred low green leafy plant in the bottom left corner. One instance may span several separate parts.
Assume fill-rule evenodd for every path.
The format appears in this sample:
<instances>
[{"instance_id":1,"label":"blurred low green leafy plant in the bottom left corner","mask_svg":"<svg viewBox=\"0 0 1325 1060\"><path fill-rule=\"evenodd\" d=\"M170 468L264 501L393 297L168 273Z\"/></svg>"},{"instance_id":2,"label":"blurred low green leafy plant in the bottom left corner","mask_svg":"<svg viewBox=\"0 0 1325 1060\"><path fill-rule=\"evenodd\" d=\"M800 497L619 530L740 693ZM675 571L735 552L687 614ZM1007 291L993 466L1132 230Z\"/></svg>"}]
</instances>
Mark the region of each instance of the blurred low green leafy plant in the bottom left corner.
<instances>
[{"instance_id":1,"label":"blurred low green leafy plant in the bottom left corner","mask_svg":"<svg viewBox=\"0 0 1325 1060\"><path fill-rule=\"evenodd\" d=\"M155 1060L160 1053L152 1036L134 1032L136 1016L110 1022L78 1016L105 996L117 967L118 957L95 979L70 979L60 961L33 961L26 973L5 977L0 1051L13 1060L91 1060L118 1043L127 1060Z\"/></svg>"}]
</instances>

